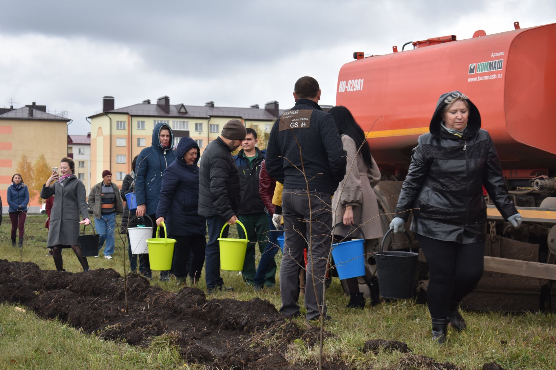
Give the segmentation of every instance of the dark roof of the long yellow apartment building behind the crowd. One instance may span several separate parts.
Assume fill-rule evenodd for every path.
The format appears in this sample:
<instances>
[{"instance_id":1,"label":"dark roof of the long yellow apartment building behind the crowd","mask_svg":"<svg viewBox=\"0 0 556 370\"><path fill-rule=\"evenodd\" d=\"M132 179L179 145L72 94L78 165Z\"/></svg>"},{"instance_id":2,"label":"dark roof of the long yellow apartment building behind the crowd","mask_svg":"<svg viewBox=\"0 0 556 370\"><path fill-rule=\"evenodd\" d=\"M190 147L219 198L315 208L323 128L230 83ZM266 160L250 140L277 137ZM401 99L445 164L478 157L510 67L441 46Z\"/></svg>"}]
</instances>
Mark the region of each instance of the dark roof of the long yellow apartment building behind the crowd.
<instances>
[{"instance_id":1,"label":"dark roof of the long yellow apartment building behind the crowd","mask_svg":"<svg viewBox=\"0 0 556 370\"><path fill-rule=\"evenodd\" d=\"M209 118L211 116L241 117L244 119L256 120L275 120L277 116L271 114L264 108L235 108L235 107L207 107L203 105L170 105L170 112L166 113L157 104L134 104L129 107L109 110L106 113L124 113L139 116L154 116L168 118ZM279 109L278 116L284 113L284 109ZM93 114L88 118L93 118L104 113Z\"/></svg>"}]
</instances>

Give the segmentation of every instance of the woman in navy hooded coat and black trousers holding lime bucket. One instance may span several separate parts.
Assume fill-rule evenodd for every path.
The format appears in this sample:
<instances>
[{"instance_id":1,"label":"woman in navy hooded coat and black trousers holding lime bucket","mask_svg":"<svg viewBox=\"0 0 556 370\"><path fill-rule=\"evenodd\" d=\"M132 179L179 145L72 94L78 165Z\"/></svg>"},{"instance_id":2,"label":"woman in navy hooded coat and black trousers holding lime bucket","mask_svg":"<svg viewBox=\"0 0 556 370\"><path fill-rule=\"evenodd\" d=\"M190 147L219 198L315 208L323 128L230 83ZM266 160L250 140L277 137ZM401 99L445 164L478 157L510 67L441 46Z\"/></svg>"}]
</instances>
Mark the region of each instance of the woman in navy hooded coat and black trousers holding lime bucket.
<instances>
[{"instance_id":1,"label":"woman in navy hooded coat and black trousers holding lime bucket","mask_svg":"<svg viewBox=\"0 0 556 370\"><path fill-rule=\"evenodd\" d=\"M185 284L187 260L193 252L189 277L195 283L201 277L205 263L206 224L197 214L199 201L199 147L191 138L181 138L177 144L177 158L162 176L160 200L156 210L156 224L165 222L170 236L176 239L173 272L177 285Z\"/></svg>"}]
</instances>

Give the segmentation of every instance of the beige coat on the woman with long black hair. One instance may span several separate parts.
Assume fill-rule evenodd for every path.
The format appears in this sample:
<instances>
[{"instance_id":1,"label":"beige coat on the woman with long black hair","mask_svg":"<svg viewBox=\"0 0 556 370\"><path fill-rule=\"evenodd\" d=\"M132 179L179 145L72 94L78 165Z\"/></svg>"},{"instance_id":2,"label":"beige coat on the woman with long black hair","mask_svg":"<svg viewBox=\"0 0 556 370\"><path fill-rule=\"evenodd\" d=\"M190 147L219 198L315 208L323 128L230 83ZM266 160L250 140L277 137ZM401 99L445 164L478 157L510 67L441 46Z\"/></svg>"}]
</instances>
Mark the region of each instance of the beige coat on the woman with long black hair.
<instances>
[{"instance_id":1,"label":"beige coat on the woman with long black hair","mask_svg":"<svg viewBox=\"0 0 556 370\"><path fill-rule=\"evenodd\" d=\"M341 181L338 189L332 197L332 212L335 212L336 226L334 234L346 236L351 227L344 226L344 211L346 206L353 206L353 218L356 224L361 225L361 230L365 239L376 239L383 236L380 224L379 207L376 202L376 195L373 187L380 180L380 170L373 159L373 168L370 169L365 164L363 155L357 154L359 148L350 136L342 135L342 144L347 152L347 166L344 180ZM354 158L355 163L354 163ZM352 165L353 164L353 165ZM345 186L344 186L345 185ZM360 238L358 231L353 231L351 237Z\"/></svg>"}]
</instances>

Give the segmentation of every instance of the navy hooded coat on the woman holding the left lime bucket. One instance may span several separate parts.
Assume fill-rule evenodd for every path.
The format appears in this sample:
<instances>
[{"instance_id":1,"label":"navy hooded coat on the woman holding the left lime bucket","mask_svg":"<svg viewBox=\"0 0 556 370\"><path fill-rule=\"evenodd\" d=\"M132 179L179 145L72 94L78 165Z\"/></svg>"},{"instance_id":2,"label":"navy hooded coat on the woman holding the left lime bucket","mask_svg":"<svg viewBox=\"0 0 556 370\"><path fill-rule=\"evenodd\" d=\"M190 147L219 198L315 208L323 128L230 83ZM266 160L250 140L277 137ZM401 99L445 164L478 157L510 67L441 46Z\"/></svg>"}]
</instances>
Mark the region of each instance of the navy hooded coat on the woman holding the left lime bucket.
<instances>
[{"instance_id":1,"label":"navy hooded coat on the woman holding the left lime bucket","mask_svg":"<svg viewBox=\"0 0 556 370\"><path fill-rule=\"evenodd\" d=\"M191 138L181 138L177 144L177 159L169 165L162 176L160 200L156 218L164 217L170 235L206 235L206 220L197 214L199 194L199 168L197 159L187 164L183 155L199 146Z\"/></svg>"}]
</instances>

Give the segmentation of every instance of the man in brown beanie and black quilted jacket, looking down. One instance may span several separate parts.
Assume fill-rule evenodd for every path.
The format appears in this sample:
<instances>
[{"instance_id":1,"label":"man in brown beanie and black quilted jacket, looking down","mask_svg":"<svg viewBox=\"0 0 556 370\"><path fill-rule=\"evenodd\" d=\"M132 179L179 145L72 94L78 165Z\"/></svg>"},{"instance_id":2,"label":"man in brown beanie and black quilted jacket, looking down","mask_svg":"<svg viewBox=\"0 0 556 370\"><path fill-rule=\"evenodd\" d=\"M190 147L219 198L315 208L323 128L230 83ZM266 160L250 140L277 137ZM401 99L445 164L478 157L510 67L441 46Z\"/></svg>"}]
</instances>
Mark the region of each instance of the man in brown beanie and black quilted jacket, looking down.
<instances>
[{"instance_id":1,"label":"man in brown beanie and black quilted jacket, looking down","mask_svg":"<svg viewBox=\"0 0 556 370\"><path fill-rule=\"evenodd\" d=\"M226 223L237 222L237 211L241 201L240 176L232 156L245 139L245 125L237 119L227 121L222 134L205 148L200 161L199 173L199 216L206 217L209 242L205 252L205 278L207 291L224 287L220 276L220 230ZM228 236L228 229L222 237Z\"/></svg>"}]
</instances>

